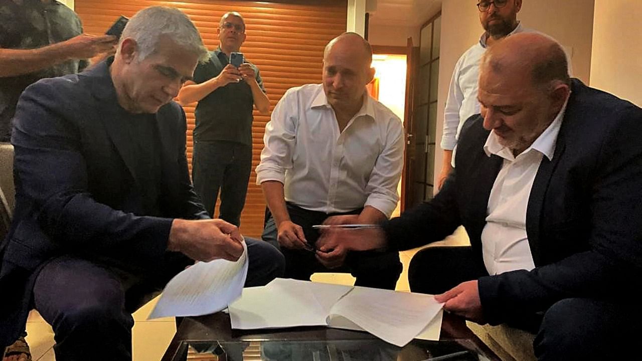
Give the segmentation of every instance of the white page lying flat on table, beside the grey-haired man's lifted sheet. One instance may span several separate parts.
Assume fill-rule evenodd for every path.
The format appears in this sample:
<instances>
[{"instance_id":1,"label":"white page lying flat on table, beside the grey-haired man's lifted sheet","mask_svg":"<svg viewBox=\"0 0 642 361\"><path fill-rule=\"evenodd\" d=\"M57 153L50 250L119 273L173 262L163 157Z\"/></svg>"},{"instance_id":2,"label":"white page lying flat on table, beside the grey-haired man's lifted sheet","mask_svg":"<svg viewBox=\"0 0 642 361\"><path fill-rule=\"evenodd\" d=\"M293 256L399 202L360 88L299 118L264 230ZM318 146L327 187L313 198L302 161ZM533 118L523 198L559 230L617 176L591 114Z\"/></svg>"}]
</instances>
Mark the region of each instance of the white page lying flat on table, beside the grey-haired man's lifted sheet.
<instances>
[{"instance_id":1,"label":"white page lying flat on table, beside the grey-haired man's lifted sheet","mask_svg":"<svg viewBox=\"0 0 642 361\"><path fill-rule=\"evenodd\" d=\"M313 293L315 287L326 294ZM232 328L326 326L330 307L350 288L283 278L266 286L245 288L241 298L229 306Z\"/></svg>"}]
</instances>

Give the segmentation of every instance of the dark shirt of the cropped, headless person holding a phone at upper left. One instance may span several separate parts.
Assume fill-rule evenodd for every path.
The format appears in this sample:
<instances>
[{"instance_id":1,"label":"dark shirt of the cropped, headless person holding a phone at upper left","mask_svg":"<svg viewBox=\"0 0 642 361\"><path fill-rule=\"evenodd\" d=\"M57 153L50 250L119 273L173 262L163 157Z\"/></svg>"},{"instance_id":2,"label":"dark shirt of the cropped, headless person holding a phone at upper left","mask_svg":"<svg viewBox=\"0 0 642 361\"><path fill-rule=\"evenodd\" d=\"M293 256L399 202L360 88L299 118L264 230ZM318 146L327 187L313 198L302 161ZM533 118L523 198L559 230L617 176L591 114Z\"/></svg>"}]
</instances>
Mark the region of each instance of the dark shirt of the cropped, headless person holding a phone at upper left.
<instances>
[{"instance_id":1,"label":"dark shirt of the cropped, headless person holding a phone at upper left","mask_svg":"<svg viewBox=\"0 0 642 361\"><path fill-rule=\"evenodd\" d=\"M58 1L0 0L0 48L42 48L80 34L78 15ZM28 85L42 78L78 73L85 66L84 60L68 60L33 73L0 78L0 141L9 141L15 105Z\"/></svg>"}]
</instances>

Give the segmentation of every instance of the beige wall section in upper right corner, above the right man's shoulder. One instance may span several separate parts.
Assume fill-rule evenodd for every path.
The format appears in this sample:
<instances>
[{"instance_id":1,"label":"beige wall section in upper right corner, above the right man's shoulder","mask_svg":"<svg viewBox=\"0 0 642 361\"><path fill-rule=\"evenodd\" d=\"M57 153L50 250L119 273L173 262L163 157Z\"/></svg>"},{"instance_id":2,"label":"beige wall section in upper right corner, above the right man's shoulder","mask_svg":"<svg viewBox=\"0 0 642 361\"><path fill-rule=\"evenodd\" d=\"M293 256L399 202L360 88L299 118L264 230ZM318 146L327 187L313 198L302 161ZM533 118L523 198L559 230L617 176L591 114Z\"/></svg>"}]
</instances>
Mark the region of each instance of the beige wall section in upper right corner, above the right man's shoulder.
<instances>
[{"instance_id":1,"label":"beige wall section in upper right corner, above the right man's shoulder","mask_svg":"<svg viewBox=\"0 0 642 361\"><path fill-rule=\"evenodd\" d=\"M595 0L591 87L642 106L642 1Z\"/></svg>"}]
</instances>

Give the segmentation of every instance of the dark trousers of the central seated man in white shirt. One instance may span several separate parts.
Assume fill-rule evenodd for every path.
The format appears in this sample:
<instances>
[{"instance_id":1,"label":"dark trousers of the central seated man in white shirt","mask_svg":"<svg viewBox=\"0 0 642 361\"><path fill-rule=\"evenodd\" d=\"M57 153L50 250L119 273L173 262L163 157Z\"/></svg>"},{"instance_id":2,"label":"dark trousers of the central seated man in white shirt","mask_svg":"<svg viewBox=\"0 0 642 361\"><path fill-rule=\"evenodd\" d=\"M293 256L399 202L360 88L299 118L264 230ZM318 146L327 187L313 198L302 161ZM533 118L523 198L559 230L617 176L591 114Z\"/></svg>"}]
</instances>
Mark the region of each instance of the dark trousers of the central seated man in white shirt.
<instances>
[{"instance_id":1,"label":"dark trousers of the central seated man in white shirt","mask_svg":"<svg viewBox=\"0 0 642 361\"><path fill-rule=\"evenodd\" d=\"M292 222L300 225L306 235L306 240L314 245L320 234L312 226L322 224L325 218L334 215L358 214L360 209L340 214L325 214L322 212L308 211L301 207L288 204L288 213ZM275 247L281 249L286 260L285 277L293 279L304 279L309 281L310 276L315 272L350 272L356 277L354 285L372 288L385 288L394 290L397 285L397 279L401 274L401 261L399 261L399 252L349 252L345 259L344 267L339 269L325 268L315 257L313 252L300 249L286 249L279 246L277 241L277 227L274 218L269 213L266 214L265 228L261 235L264 241L272 243Z\"/></svg>"}]
</instances>

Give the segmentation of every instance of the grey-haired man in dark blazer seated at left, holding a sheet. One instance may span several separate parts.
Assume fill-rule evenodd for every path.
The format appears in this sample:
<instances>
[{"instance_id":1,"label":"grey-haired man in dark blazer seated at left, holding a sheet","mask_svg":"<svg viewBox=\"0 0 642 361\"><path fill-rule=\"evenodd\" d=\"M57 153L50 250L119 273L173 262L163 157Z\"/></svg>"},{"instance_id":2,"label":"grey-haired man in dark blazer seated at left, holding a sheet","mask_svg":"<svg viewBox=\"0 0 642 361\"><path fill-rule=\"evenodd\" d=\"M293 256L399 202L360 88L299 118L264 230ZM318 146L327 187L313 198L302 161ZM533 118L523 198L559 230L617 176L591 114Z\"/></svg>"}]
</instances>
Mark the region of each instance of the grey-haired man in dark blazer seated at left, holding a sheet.
<instances>
[{"instance_id":1,"label":"grey-haired man in dark blazer seated at left, holding a sheet","mask_svg":"<svg viewBox=\"0 0 642 361\"><path fill-rule=\"evenodd\" d=\"M147 8L115 58L22 94L0 346L35 308L53 327L56 360L131 360L132 312L195 260L238 260L238 229L209 219L192 189L186 118L171 101L206 56L186 15ZM246 285L282 274L272 245L245 242Z\"/></svg>"}]
</instances>

